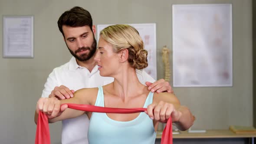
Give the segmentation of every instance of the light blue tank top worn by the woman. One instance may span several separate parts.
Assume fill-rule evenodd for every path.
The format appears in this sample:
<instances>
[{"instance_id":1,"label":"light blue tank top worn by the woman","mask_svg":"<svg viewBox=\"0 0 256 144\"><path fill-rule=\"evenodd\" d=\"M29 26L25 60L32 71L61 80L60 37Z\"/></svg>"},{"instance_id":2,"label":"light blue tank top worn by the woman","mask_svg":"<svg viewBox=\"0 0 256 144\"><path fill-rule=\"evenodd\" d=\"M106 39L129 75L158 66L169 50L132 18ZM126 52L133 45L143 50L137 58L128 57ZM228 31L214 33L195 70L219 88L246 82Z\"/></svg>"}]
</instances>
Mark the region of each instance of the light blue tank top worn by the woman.
<instances>
[{"instance_id":1,"label":"light blue tank top worn by the woman","mask_svg":"<svg viewBox=\"0 0 256 144\"><path fill-rule=\"evenodd\" d=\"M152 92L148 94L143 108L152 104L153 94ZM98 87L95 106L104 107L102 87ZM144 112L131 121L115 121L106 113L97 112L93 112L90 118L89 144L154 144L155 138L153 121Z\"/></svg>"}]
</instances>

